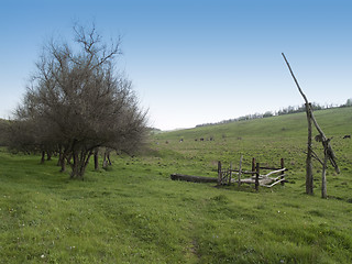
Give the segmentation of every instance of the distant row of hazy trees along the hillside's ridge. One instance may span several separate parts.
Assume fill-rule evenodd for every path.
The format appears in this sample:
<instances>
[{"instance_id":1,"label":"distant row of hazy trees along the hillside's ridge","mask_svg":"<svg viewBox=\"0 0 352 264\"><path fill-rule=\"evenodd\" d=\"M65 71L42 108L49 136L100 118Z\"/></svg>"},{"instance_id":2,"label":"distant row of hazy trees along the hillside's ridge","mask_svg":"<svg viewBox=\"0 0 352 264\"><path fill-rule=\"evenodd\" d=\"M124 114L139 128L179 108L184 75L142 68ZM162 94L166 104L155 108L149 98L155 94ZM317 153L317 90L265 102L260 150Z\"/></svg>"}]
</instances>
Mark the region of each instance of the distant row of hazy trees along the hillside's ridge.
<instances>
[{"instance_id":1,"label":"distant row of hazy trees along the hillside's ridge","mask_svg":"<svg viewBox=\"0 0 352 264\"><path fill-rule=\"evenodd\" d=\"M331 109L331 108L345 108L345 107L352 107L352 98L348 99L345 103L343 105L324 105L321 106L317 102L311 103L312 110L324 110L324 109ZM204 124L197 124L196 128L200 127L208 127L208 125L216 125L216 124L224 124L224 123L232 123L232 122L239 122L239 121L245 121L245 120L253 120L253 119L262 119L262 118L270 118L274 116L284 116L284 114L290 114L290 113L298 113L298 112L305 112L306 111L306 106L302 103L301 106L288 106L287 108L283 108L278 111L266 111L264 113L252 113L252 114L246 114L242 116L240 118L235 119L228 119L228 120L222 120L220 122L216 123L204 123Z\"/></svg>"}]
</instances>

